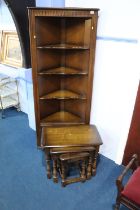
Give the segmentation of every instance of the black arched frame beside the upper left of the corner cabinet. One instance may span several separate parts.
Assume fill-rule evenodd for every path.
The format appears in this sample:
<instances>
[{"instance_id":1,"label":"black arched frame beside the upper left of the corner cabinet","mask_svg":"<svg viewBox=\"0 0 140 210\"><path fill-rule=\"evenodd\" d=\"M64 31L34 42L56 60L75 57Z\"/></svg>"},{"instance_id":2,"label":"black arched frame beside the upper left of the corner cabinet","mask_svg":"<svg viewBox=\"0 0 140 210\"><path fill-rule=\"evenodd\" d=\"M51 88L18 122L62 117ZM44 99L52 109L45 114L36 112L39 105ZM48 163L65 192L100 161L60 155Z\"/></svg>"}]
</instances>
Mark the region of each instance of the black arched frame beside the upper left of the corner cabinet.
<instances>
[{"instance_id":1,"label":"black arched frame beside the upper left of the corner cabinet","mask_svg":"<svg viewBox=\"0 0 140 210\"><path fill-rule=\"evenodd\" d=\"M4 0L4 2L9 8L17 29L23 57L23 67L30 68L31 57L27 7L35 7L35 0Z\"/></svg>"}]
</instances>

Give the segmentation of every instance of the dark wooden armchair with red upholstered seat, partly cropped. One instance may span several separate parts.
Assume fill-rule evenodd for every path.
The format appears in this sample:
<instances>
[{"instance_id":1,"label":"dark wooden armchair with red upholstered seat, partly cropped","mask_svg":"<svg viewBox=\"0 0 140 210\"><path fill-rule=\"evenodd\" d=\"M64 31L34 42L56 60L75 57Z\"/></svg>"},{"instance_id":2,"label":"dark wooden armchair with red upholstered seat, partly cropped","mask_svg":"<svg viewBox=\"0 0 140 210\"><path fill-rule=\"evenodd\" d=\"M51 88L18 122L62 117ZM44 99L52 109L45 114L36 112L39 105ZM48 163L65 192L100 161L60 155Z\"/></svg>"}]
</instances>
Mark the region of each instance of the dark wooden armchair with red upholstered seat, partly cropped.
<instances>
[{"instance_id":1,"label":"dark wooden armchair with red upholstered seat, partly cropped","mask_svg":"<svg viewBox=\"0 0 140 210\"><path fill-rule=\"evenodd\" d=\"M131 167L134 168L132 176L129 178L127 184L123 186L123 179L125 174ZM118 210L120 204L123 204L131 210L140 209L140 166L138 163L138 156L135 154L132 156L131 161L125 167L122 174L116 180L118 189L115 210Z\"/></svg>"}]
</instances>

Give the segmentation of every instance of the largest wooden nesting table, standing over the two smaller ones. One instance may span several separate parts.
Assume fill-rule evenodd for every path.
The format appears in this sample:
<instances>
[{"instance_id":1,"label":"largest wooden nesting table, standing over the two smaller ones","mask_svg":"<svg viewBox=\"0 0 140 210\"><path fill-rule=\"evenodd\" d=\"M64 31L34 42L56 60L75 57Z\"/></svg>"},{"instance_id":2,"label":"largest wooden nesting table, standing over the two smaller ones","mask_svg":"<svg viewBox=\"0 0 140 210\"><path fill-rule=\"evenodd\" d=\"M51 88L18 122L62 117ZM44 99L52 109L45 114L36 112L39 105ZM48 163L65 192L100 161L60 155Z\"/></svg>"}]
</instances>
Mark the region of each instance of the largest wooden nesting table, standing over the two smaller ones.
<instances>
[{"instance_id":1,"label":"largest wooden nesting table, standing over the two smaller ones","mask_svg":"<svg viewBox=\"0 0 140 210\"><path fill-rule=\"evenodd\" d=\"M92 164L92 173L96 174L96 162L99 152L99 147L102 145L102 140L95 125L74 125L74 126L55 126L42 128L42 144L47 160L47 176L51 178L51 154L52 148L75 148L94 147L95 155ZM53 170L56 170L54 164ZM54 173L55 174L55 173Z\"/></svg>"}]
</instances>

